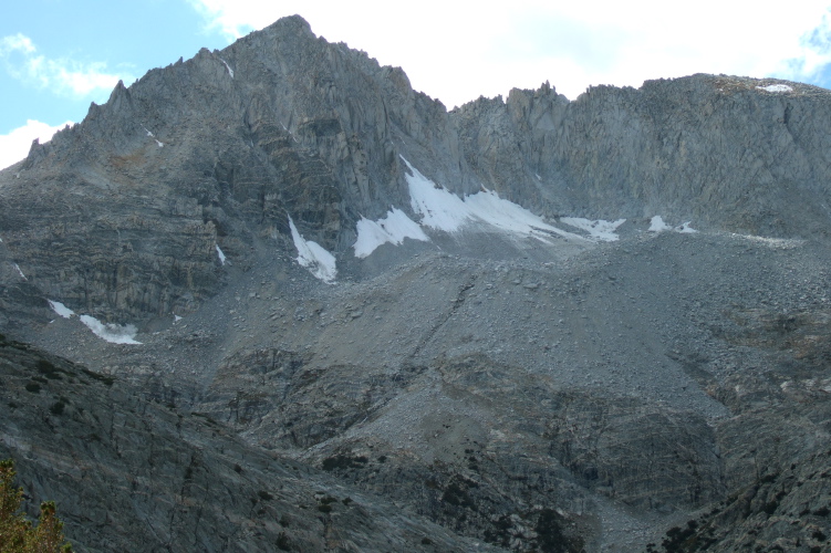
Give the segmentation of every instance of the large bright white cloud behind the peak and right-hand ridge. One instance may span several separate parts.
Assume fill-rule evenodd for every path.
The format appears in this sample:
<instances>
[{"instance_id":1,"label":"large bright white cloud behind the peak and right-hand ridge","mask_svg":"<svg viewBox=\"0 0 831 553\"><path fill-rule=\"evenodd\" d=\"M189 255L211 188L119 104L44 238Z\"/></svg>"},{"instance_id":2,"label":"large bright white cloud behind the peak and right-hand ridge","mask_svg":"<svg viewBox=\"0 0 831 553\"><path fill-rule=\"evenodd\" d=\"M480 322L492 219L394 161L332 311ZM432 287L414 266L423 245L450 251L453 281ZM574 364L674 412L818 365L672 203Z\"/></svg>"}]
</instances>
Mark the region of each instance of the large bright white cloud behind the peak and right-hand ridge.
<instances>
[{"instance_id":1,"label":"large bright white cloud behind the peak and right-hand ridge","mask_svg":"<svg viewBox=\"0 0 831 553\"><path fill-rule=\"evenodd\" d=\"M498 10L424 0L407 12L367 0L190 2L229 41L299 13L315 34L403 66L416 90L448 107L547 80L571 98L593 84L698 72L810 80L828 63L831 38L829 0L513 0Z\"/></svg>"}]
</instances>

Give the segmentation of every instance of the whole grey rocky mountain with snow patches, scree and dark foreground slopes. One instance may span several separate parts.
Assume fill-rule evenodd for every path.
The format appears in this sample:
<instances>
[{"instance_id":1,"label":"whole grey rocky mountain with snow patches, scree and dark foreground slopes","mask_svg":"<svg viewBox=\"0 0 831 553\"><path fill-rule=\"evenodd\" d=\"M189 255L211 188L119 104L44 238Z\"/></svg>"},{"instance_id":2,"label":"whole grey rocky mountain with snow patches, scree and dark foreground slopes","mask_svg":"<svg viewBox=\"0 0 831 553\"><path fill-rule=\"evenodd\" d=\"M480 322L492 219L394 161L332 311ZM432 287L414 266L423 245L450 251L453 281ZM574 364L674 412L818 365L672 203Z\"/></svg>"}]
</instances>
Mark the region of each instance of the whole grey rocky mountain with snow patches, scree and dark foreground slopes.
<instances>
[{"instance_id":1,"label":"whole grey rocky mountain with snow patches, scree and dark foreground slopes","mask_svg":"<svg viewBox=\"0 0 831 553\"><path fill-rule=\"evenodd\" d=\"M831 551L830 205L827 90L282 19L0 171L0 458L79 551Z\"/></svg>"}]
</instances>

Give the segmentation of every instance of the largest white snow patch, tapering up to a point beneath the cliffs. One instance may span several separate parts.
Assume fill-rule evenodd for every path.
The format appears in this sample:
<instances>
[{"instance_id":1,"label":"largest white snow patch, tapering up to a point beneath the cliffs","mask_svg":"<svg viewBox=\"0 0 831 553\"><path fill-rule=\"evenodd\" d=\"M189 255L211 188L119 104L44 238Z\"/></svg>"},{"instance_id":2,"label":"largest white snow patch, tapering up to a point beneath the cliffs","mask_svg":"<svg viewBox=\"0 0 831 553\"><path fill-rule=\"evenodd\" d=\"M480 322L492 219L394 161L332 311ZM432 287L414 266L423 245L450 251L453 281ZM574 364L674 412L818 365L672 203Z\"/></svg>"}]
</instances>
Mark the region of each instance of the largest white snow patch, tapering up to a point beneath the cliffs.
<instances>
[{"instance_id":1,"label":"largest white snow patch, tapering up to a point beneath the cliffs","mask_svg":"<svg viewBox=\"0 0 831 553\"><path fill-rule=\"evenodd\" d=\"M579 238L558 229L528 209L502 199L490 190L459 198L445 187L437 186L422 175L403 156L411 175L404 175L409 189L413 211L422 216L420 225L445 232L456 232L469 222L482 222L499 230L537 238L547 242L552 233Z\"/></svg>"}]
</instances>

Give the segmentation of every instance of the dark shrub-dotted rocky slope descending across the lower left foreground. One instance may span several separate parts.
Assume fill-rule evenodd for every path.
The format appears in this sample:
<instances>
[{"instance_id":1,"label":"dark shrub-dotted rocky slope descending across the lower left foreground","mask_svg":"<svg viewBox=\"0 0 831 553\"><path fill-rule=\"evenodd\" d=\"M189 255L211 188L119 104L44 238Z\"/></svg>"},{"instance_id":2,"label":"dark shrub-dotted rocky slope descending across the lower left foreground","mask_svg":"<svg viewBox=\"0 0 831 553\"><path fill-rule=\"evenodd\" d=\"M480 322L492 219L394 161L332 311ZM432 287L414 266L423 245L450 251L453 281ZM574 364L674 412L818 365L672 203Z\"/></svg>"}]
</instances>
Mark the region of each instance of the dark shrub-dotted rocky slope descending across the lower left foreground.
<instances>
[{"instance_id":1,"label":"dark shrub-dotted rocky slope descending across the lower left foreground","mask_svg":"<svg viewBox=\"0 0 831 553\"><path fill-rule=\"evenodd\" d=\"M24 344L0 374L0 457L79 551L490 550Z\"/></svg>"}]
</instances>

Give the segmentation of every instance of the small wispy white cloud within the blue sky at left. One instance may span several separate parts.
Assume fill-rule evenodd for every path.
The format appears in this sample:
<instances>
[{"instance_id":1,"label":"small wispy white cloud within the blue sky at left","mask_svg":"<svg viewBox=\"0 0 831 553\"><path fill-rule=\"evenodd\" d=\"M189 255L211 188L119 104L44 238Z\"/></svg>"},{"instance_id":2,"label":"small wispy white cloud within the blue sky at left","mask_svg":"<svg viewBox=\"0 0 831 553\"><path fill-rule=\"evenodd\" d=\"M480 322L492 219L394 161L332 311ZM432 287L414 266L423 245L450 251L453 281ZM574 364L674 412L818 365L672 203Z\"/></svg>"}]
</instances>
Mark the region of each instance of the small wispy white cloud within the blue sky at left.
<instances>
[{"instance_id":1,"label":"small wispy white cloud within the blue sky at left","mask_svg":"<svg viewBox=\"0 0 831 553\"><path fill-rule=\"evenodd\" d=\"M133 81L128 74L107 72L106 63L81 63L67 58L49 59L38 53L32 40L21 33L0 39L0 60L14 79L53 93L75 98L104 94L120 79Z\"/></svg>"}]
</instances>

